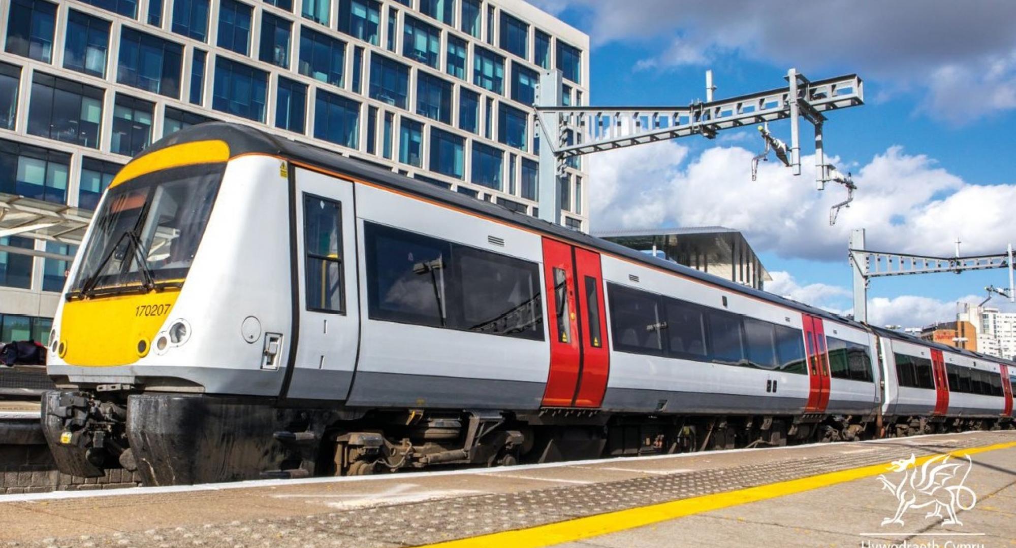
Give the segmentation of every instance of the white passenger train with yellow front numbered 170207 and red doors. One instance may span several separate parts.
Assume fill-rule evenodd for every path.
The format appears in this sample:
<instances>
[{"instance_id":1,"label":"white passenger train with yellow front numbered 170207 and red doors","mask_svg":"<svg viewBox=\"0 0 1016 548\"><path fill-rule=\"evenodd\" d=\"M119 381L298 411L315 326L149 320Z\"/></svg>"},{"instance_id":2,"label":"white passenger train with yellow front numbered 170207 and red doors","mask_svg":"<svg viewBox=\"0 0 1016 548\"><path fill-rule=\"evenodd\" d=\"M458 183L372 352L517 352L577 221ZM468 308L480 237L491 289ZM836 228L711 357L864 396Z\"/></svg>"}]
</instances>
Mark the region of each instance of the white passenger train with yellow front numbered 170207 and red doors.
<instances>
[{"instance_id":1,"label":"white passenger train with yellow front numbered 170207 and red doors","mask_svg":"<svg viewBox=\"0 0 1016 548\"><path fill-rule=\"evenodd\" d=\"M1016 374L219 123L116 177L51 341L60 470L151 485L1008 427Z\"/></svg>"}]
</instances>

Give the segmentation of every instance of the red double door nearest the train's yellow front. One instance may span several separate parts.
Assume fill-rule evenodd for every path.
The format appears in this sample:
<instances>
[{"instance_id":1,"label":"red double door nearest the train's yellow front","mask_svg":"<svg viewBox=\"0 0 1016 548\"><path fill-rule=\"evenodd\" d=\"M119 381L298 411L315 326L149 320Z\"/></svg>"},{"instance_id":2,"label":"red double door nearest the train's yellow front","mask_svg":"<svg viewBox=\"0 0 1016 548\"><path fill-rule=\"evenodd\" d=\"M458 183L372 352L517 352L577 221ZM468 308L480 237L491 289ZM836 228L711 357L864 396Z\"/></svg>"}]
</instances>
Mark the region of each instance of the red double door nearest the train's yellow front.
<instances>
[{"instance_id":1,"label":"red double door nearest the train's yellow front","mask_svg":"<svg viewBox=\"0 0 1016 548\"><path fill-rule=\"evenodd\" d=\"M551 369L543 405L598 407L610 367L599 255L544 238L544 271Z\"/></svg>"}]
</instances>

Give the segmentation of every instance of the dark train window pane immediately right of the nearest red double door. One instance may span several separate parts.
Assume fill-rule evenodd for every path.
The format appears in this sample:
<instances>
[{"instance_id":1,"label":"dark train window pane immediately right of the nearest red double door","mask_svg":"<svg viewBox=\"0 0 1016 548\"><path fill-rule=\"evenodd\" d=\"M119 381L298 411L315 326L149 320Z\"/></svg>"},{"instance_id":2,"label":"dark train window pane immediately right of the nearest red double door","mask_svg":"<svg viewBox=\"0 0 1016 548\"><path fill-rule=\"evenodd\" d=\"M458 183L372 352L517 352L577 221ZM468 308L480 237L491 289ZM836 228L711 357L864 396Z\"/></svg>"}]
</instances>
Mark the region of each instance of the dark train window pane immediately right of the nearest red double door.
<instances>
[{"instance_id":1,"label":"dark train window pane immediately right of the nearest red double door","mask_svg":"<svg viewBox=\"0 0 1016 548\"><path fill-rule=\"evenodd\" d=\"M611 284L611 327L614 348L626 352L661 355L661 332L666 323L660 318L659 299L652 293Z\"/></svg>"}]
</instances>

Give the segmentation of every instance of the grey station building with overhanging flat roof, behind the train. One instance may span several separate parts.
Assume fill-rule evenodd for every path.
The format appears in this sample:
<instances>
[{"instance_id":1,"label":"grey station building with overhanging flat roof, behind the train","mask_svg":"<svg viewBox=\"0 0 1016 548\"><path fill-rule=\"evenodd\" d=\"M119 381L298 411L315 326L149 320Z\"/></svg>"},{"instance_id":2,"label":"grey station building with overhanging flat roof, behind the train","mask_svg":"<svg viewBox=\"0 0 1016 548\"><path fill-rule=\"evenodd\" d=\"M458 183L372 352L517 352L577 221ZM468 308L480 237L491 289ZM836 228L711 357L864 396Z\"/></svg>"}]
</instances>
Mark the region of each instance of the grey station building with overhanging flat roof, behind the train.
<instances>
[{"instance_id":1,"label":"grey station building with overhanging flat roof, behind the train","mask_svg":"<svg viewBox=\"0 0 1016 548\"><path fill-rule=\"evenodd\" d=\"M593 230L592 234L756 289L772 281L748 239L734 228L636 228Z\"/></svg>"}]
</instances>

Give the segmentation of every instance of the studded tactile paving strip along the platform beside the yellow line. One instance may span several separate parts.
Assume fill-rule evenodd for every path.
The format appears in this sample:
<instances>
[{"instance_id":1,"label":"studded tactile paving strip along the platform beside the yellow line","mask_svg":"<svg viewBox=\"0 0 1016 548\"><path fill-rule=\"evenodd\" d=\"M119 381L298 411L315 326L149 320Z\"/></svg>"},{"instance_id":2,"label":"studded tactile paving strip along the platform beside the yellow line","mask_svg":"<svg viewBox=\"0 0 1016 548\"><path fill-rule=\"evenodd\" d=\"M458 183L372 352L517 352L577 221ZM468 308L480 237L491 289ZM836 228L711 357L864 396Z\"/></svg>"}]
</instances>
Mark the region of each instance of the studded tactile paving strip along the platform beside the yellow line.
<instances>
[{"instance_id":1,"label":"studded tactile paving strip along the platform beside the yellow line","mask_svg":"<svg viewBox=\"0 0 1016 548\"><path fill-rule=\"evenodd\" d=\"M693 496L732 491L964 447L1013 439L1011 433L978 432L957 440L886 440L877 452L795 457L777 462L656 474L620 481L553 487L511 494L461 496L274 520L206 524L110 536L44 539L22 546L137 546L170 548L385 548L415 546L522 529ZM18 545L17 543L11 545Z\"/></svg>"}]
</instances>

